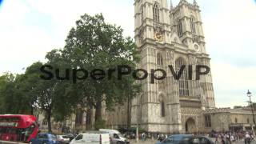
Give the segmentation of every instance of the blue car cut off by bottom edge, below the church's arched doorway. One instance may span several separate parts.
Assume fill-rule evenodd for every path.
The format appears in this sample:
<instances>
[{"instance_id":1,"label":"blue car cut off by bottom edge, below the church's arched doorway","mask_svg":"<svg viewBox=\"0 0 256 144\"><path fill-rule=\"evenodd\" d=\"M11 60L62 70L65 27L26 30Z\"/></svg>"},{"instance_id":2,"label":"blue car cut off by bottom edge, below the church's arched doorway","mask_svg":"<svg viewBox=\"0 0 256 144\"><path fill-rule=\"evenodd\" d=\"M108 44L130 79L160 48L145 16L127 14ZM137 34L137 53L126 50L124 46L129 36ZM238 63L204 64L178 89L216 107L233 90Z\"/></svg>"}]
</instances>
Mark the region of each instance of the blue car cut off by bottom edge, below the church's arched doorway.
<instances>
[{"instance_id":1,"label":"blue car cut off by bottom edge, below the church's arched doorway","mask_svg":"<svg viewBox=\"0 0 256 144\"><path fill-rule=\"evenodd\" d=\"M191 134L175 134L156 144L214 144L204 136L193 136Z\"/></svg>"}]
</instances>

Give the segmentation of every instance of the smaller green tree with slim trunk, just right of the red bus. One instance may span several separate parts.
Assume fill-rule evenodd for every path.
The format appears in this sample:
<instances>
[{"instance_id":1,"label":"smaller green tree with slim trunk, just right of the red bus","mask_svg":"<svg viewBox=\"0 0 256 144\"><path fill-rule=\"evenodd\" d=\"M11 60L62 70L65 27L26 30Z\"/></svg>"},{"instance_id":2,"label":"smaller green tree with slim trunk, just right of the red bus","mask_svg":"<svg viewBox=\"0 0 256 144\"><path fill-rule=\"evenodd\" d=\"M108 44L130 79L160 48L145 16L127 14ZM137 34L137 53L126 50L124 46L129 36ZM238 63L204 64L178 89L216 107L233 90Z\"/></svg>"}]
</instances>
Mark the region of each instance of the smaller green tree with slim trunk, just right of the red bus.
<instances>
[{"instance_id":1,"label":"smaller green tree with slim trunk, just right of the red bus","mask_svg":"<svg viewBox=\"0 0 256 144\"><path fill-rule=\"evenodd\" d=\"M47 55L48 56L48 55ZM46 57L47 57L46 56ZM42 72L42 62L35 62L26 69L23 90L26 91L26 95L30 98L30 102L33 106L43 110L46 115L48 123L48 132L51 132L51 118L54 110L58 112L66 110L67 104L65 95L65 83L57 79L44 80L40 78ZM54 73L54 71L52 71ZM63 104L62 104L63 103ZM60 114L56 113L56 117ZM59 117L58 117L59 118Z\"/></svg>"}]
</instances>

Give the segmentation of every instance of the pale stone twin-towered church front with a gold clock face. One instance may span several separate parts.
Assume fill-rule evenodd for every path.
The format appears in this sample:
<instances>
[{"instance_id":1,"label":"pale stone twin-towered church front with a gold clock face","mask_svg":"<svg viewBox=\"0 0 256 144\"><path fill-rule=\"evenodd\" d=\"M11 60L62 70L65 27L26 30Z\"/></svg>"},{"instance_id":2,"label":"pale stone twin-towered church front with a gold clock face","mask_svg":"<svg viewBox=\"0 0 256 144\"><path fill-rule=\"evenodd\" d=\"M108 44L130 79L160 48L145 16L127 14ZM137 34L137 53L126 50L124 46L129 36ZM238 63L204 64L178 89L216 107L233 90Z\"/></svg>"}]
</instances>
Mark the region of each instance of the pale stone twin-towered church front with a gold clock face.
<instances>
[{"instance_id":1,"label":"pale stone twin-towered church front with a gold clock face","mask_svg":"<svg viewBox=\"0 0 256 144\"><path fill-rule=\"evenodd\" d=\"M169 8L170 7L170 8ZM141 53L138 68L162 69L167 78L140 81L142 94L132 100L131 125L149 132L190 133L200 130L202 111L215 107L211 74L195 80L188 66L210 66L197 2L181 0L170 6L167 0L134 0L134 38ZM175 80L168 66L185 73ZM157 74L161 76L162 73Z\"/></svg>"}]
</instances>

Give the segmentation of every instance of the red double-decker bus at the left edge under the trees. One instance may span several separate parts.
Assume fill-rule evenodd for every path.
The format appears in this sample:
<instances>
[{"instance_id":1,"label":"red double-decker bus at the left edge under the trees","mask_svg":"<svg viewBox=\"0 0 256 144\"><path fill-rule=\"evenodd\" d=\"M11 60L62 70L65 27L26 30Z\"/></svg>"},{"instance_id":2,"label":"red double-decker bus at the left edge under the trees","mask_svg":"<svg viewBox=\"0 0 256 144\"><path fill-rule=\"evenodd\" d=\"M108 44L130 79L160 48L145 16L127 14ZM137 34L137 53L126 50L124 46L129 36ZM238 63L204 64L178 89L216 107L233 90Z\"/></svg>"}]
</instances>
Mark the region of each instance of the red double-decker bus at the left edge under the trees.
<instances>
[{"instance_id":1,"label":"red double-decker bus at the left edge under the trees","mask_svg":"<svg viewBox=\"0 0 256 144\"><path fill-rule=\"evenodd\" d=\"M38 123L34 115L0 114L0 140L30 142L37 134Z\"/></svg>"}]
</instances>

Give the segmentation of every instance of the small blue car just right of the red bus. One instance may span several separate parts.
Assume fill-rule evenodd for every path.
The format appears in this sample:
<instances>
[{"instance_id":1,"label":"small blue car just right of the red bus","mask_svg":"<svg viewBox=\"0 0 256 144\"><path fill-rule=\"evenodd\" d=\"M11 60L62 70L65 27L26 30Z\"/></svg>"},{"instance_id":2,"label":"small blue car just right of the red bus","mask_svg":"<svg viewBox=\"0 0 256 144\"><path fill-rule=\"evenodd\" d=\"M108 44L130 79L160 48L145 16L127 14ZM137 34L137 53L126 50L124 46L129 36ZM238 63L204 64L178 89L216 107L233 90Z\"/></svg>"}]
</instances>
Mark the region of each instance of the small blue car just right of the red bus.
<instances>
[{"instance_id":1,"label":"small blue car just right of the red bus","mask_svg":"<svg viewBox=\"0 0 256 144\"><path fill-rule=\"evenodd\" d=\"M59 144L54 134L40 133L36 138L31 139L31 144Z\"/></svg>"}]
</instances>

